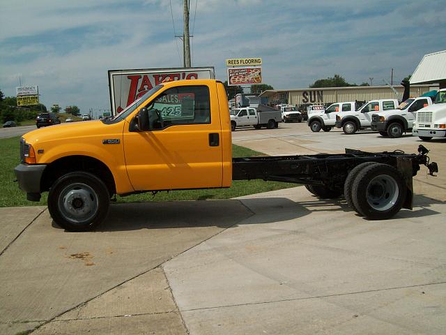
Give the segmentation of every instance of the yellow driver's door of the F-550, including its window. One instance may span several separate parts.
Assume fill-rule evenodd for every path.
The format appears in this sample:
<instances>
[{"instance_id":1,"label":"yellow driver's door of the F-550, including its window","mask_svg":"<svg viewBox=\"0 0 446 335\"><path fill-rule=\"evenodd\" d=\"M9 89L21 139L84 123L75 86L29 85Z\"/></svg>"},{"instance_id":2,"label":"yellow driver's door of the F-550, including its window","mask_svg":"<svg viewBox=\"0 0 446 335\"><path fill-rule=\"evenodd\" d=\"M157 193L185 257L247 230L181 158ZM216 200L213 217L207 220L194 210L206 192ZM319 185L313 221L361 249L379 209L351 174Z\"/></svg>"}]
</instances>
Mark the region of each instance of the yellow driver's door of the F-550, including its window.
<instances>
[{"instance_id":1,"label":"yellow driver's door of the F-550, including its window","mask_svg":"<svg viewBox=\"0 0 446 335\"><path fill-rule=\"evenodd\" d=\"M222 186L222 129L215 87L162 91L142 107L150 131L124 130L128 177L135 191Z\"/></svg>"}]
</instances>

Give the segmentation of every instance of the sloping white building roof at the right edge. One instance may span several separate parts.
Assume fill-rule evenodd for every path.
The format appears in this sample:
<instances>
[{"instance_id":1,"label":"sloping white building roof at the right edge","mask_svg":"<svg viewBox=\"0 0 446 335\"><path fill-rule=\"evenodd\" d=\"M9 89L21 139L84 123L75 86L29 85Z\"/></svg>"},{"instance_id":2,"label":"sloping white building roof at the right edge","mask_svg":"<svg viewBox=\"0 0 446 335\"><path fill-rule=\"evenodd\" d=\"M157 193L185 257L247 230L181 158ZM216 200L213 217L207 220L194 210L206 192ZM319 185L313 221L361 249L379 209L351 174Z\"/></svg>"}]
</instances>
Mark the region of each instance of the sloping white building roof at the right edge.
<instances>
[{"instance_id":1,"label":"sloping white building roof at the right edge","mask_svg":"<svg viewBox=\"0 0 446 335\"><path fill-rule=\"evenodd\" d=\"M446 50L425 54L410 77L410 84L431 84L446 80Z\"/></svg>"}]
</instances>

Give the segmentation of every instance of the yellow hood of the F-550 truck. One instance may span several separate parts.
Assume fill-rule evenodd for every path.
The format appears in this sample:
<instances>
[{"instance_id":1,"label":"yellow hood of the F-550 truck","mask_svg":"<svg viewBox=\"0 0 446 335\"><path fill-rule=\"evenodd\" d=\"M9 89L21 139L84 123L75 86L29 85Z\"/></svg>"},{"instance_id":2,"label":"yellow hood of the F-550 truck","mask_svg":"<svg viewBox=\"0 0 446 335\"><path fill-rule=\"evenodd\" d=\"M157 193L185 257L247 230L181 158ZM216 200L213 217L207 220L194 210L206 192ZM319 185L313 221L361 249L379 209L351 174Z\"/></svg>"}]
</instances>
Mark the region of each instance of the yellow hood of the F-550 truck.
<instances>
[{"instance_id":1,"label":"yellow hood of the F-550 truck","mask_svg":"<svg viewBox=\"0 0 446 335\"><path fill-rule=\"evenodd\" d=\"M118 124L121 124L121 122ZM101 133L109 133L118 124L103 124L100 120L79 121L39 128L26 133L22 137L26 140L26 143L31 144L33 142L46 142L47 140L68 140L70 138L85 137L91 134L100 135ZM121 124L121 131L122 126Z\"/></svg>"}]
</instances>

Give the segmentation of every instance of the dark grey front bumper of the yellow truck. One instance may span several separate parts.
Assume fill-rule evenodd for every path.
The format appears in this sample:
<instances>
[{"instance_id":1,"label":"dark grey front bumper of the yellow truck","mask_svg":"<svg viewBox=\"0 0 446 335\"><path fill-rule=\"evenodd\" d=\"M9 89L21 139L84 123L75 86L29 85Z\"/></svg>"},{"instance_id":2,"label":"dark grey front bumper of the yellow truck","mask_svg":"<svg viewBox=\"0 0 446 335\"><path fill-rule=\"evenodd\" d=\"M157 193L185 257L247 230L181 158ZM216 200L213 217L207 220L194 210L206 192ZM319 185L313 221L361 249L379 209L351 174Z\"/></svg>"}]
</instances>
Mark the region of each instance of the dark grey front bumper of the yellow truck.
<instances>
[{"instance_id":1,"label":"dark grey front bumper of the yellow truck","mask_svg":"<svg viewBox=\"0 0 446 335\"><path fill-rule=\"evenodd\" d=\"M31 201L40 200L40 181L45 168L47 168L45 164L29 165L24 163L15 167L15 177L19 182L19 188L27 193L26 199Z\"/></svg>"}]
</instances>

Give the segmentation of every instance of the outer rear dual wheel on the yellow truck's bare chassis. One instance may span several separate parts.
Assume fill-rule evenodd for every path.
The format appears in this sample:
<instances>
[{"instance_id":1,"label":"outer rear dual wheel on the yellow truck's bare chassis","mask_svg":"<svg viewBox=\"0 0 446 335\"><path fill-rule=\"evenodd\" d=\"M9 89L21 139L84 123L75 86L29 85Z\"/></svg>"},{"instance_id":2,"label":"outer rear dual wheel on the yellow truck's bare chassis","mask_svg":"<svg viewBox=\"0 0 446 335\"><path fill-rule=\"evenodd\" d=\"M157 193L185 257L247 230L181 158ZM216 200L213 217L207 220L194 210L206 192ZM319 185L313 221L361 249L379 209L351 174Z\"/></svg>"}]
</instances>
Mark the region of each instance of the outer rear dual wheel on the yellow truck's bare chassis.
<instances>
[{"instance_id":1,"label":"outer rear dual wheel on the yellow truck's bare chassis","mask_svg":"<svg viewBox=\"0 0 446 335\"><path fill-rule=\"evenodd\" d=\"M360 170L351 193L359 214L371 220L386 220L403 206L407 187L396 168L378 163Z\"/></svg>"}]
</instances>

